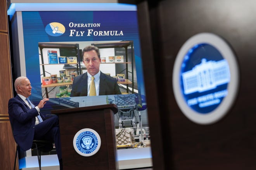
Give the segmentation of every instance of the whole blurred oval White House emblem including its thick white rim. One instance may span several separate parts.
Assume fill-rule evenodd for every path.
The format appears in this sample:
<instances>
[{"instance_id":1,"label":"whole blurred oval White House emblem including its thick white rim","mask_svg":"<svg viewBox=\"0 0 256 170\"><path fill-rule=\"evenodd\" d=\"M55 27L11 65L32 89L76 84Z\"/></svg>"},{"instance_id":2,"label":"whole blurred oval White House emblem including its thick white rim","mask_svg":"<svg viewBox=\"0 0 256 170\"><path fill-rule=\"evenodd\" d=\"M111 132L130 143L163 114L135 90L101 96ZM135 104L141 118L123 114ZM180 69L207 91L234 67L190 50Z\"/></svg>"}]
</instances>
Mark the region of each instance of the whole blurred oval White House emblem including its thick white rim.
<instances>
[{"instance_id":1,"label":"whole blurred oval White House emblem including its thick white rim","mask_svg":"<svg viewBox=\"0 0 256 170\"><path fill-rule=\"evenodd\" d=\"M173 67L173 93L183 114L211 124L230 109L239 87L239 68L230 46L212 33L190 37Z\"/></svg>"}]
</instances>

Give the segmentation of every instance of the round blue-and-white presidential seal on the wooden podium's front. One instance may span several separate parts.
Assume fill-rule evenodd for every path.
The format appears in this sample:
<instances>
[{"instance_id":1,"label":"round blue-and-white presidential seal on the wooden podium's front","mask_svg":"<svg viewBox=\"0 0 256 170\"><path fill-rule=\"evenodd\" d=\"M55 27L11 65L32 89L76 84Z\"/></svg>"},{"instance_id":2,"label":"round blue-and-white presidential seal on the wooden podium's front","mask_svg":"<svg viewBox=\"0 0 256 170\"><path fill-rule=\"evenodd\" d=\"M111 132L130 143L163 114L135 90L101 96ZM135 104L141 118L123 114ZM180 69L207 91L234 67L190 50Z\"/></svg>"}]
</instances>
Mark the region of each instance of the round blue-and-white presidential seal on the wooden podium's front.
<instances>
[{"instance_id":1,"label":"round blue-and-white presidential seal on the wooden podium's front","mask_svg":"<svg viewBox=\"0 0 256 170\"><path fill-rule=\"evenodd\" d=\"M73 139L76 152L82 156L92 156L100 149L101 140L99 134L93 129L81 129Z\"/></svg>"}]
</instances>

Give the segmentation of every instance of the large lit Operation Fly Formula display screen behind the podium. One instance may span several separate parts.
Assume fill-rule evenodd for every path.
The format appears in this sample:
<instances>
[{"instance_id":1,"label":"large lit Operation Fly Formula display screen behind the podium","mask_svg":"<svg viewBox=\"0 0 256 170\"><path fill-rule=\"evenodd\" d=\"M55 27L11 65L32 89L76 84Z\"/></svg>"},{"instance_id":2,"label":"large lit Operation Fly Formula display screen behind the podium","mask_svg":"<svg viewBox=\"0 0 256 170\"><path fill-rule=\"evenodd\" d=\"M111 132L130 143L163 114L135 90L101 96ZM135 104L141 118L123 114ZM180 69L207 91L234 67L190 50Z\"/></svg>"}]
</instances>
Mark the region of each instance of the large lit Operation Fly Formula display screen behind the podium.
<instances>
[{"instance_id":1,"label":"large lit Operation Fly Formula display screen behind the podium","mask_svg":"<svg viewBox=\"0 0 256 170\"><path fill-rule=\"evenodd\" d=\"M15 7L16 14L11 19L13 37L18 40L13 41L14 76L29 78L32 86L29 99L35 105L49 98L40 113L116 104L117 148L142 147L132 152L118 150L119 168L127 168L123 160L129 159L133 160L133 168L152 166L136 5L31 3L28 7L26 3L18 3ZM100 88L105 81L101 79L96 96L88 96L87 81L76 83L77 78L88 72L83 61L83 49L87 46L99 48L100 76L114 80L121 94L103 93L107 90ZM76 90L87 92L74 95L75 83ZM141 158L147 158L148 162L141 165Z\"/></svg>"}]
</instances>

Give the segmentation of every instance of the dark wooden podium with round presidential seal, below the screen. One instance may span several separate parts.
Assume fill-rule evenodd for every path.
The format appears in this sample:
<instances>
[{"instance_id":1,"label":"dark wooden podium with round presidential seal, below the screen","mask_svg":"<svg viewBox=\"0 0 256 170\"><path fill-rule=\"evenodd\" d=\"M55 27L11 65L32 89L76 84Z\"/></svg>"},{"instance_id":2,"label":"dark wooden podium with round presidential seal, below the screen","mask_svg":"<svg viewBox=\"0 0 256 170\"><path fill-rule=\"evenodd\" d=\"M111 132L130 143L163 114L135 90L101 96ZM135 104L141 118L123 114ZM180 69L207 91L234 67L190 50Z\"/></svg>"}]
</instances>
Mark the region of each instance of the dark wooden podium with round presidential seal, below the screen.
<instances>
[{"instance_id":1,"label":"dark wooden podium with round presidential seal, below the screen","mask_svg":"<svg viewBox=\"0 0 256 170\"><path fill-rule=\"evenodd\" d=\"M115 104L52 110L59 116L62 160L64 170L118 169L114 114ZM73 146L74 136L81 129L96 131L101 139L100 149L92 156L82 156Z\"/></svg>"}]
</instances>

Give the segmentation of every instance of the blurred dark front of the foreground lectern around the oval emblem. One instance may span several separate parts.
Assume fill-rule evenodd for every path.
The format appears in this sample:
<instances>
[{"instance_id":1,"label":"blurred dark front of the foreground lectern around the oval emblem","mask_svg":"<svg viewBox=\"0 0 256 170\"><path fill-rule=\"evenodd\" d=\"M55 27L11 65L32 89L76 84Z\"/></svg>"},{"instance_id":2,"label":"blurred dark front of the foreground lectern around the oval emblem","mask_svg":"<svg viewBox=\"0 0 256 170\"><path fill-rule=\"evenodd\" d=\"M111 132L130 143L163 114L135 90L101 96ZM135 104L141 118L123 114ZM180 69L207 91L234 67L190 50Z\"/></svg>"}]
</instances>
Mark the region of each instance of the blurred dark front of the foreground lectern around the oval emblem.
<instances>
[{"instance_id":1,"label":"blurred dark front of the foreground lectern around the oval emblem","mask_svg":"<svg viewBox=\"0 0 256 170\"><path fill-rule=\"evenodd\" d=\"M163 106L161 128L167 169L256 168L255 6L254 1L166 0L150 9L155 67L160 76L157 80L164 83L158 94L162 102L159 105ZM237 100L227 116L211 125L198 125L187 119L176 104L172 88L172 70L179 49L201 32L223 37L234 49L240 66Z\"/></svg>"}]
</instances>

